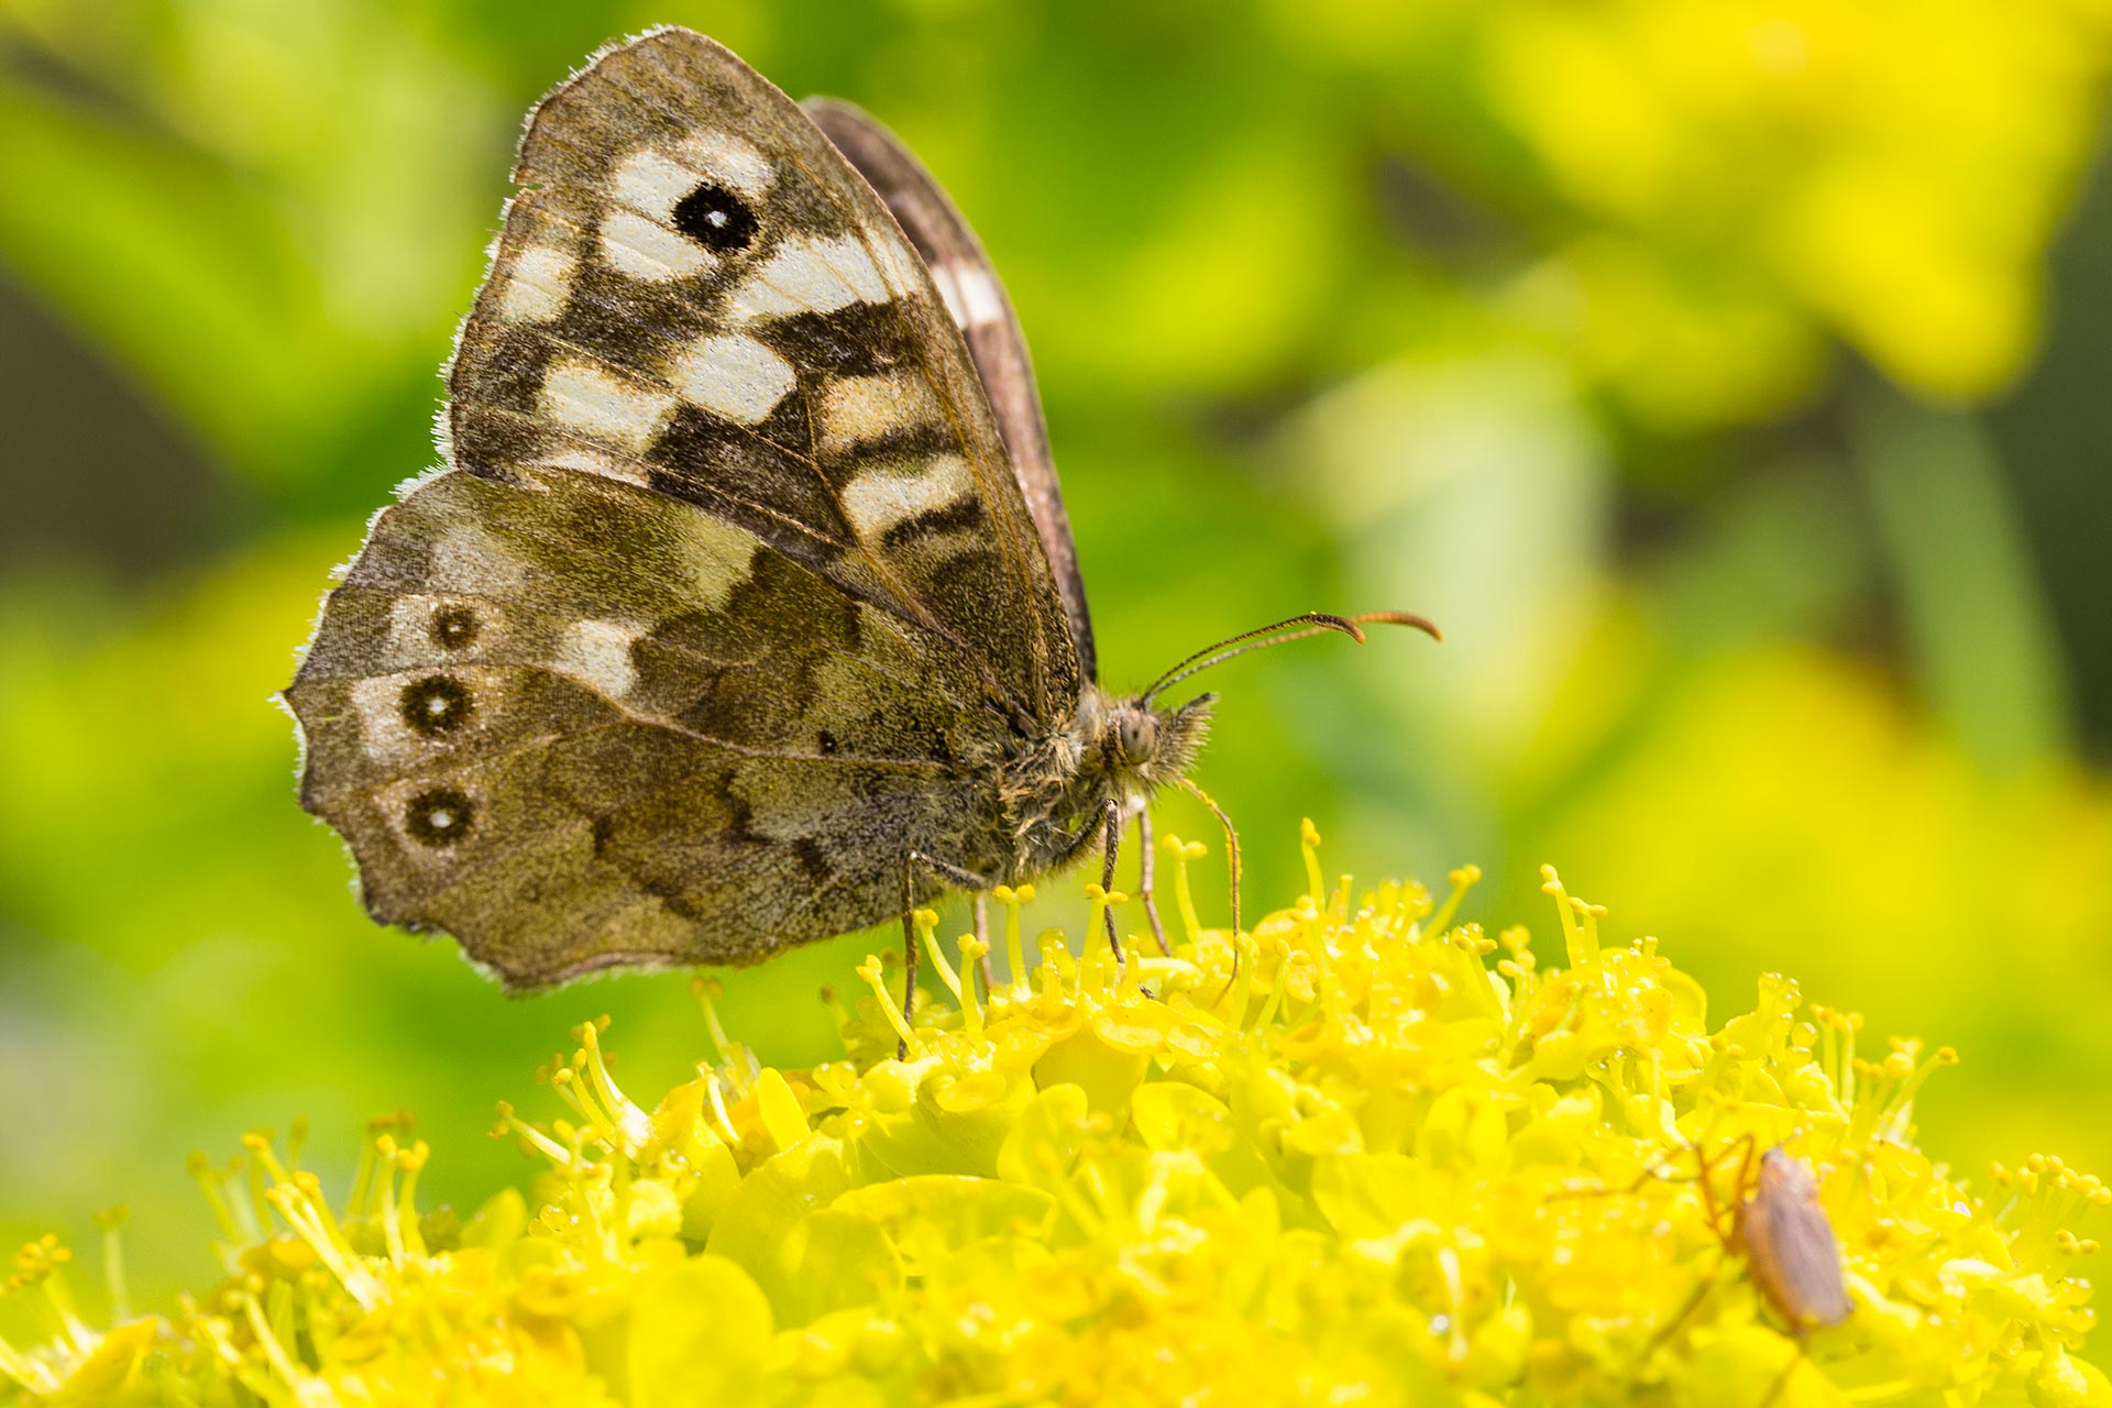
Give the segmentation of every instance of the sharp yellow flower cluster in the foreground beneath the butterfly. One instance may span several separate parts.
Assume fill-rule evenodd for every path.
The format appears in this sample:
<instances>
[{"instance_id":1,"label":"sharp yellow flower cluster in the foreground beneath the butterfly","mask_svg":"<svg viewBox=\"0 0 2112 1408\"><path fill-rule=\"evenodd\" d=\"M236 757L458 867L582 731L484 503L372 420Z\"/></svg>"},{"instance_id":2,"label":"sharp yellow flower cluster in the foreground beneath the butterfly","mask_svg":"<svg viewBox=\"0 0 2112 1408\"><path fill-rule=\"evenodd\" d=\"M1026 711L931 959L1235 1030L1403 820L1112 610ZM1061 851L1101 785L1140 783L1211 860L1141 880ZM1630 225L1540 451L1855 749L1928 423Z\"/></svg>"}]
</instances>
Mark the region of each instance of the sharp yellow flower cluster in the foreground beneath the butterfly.
<instances>
[{"instance_id":1,"label":"sharp yellow flower cluster in the foreground beneath the butterfly","mask_svg":"<svg viewBox=\"0 0 2112 1408\"><path fill-rule=\"evenodd\" d=\"M2070 1231L2112 1193L2044 1157L1975 1191L1920 1153L1949 1051L1859 1051L1780 977L1711 1028L1552 870L1544 965L1455 925L1472 868L1442 901L1356 895L1316 840L1309 893L1229 933L1170 838L1164 956L1052 931L1029 960L1029 895L997 891L997 982L921 912L944 996L902 1022L870 960L813 1070L758 1066L705 990L716 1060L646 1108L587 1024L545 1070L568 1112L501 1110L532 1195L469 1222L418 1212L397 1121L342 1203L251 1136L196 1169L220 1286L95 1330L36 1243L13 1288L46 1338L0 1376L291 1408L2112 1404L2074 1357ZM1090 935L1126 899L1088 895Z\"/></svg>"}]
</instances>

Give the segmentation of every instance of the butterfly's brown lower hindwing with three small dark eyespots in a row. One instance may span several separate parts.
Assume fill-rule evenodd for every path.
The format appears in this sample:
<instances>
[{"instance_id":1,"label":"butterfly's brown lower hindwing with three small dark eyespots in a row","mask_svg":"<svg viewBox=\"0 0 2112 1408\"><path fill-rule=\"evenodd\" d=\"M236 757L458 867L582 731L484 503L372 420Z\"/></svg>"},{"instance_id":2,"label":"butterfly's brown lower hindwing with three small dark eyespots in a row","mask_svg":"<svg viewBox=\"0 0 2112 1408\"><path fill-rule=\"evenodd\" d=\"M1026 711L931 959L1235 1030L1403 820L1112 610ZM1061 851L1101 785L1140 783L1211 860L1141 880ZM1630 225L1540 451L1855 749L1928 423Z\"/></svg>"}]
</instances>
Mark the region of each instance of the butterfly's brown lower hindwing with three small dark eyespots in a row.
<instances>
[{"instance_id":1,"label":"butterfly's brown lower hindwing with three small dark eyespots in a row","mask_svg":"<svg viewBox=\"0 0 2112 1408\"><path fill-rule=\"evenodd\" d=\"M931 686L965 671L636 486L448 473L380 515L289 699L370 908L536 986L885 914L887 838L969 804L982 716Z\"/></svg>"}]
</instances>

